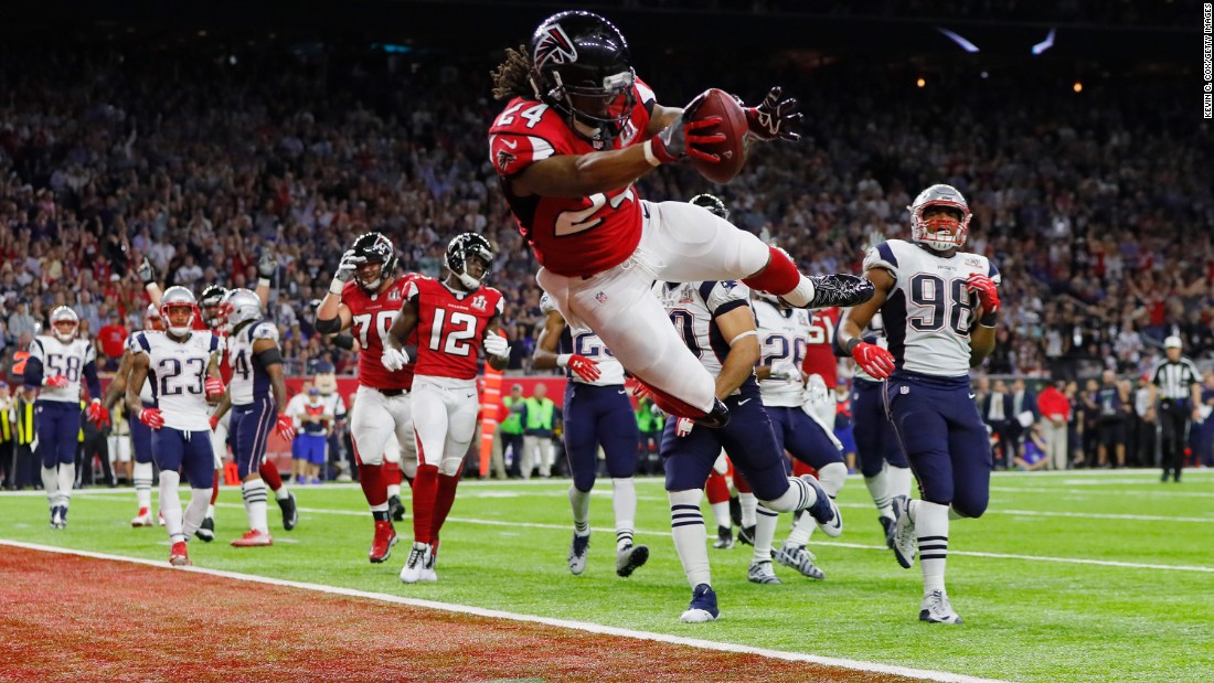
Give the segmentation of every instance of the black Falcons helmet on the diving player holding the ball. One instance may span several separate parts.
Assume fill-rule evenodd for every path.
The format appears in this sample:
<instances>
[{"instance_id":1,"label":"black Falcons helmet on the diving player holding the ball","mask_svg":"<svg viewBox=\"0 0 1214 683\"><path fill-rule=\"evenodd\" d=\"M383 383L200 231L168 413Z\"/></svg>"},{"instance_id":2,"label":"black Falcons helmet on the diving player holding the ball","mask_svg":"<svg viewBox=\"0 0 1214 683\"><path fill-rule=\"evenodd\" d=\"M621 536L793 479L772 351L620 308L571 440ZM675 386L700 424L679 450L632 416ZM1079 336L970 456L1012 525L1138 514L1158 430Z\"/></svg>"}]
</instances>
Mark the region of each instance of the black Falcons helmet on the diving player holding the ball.
<instances>
[{"instance_id":1,"label":"black Falcons helmet on the diving player holding the ball","mask_svg":"<svg viewBox=\"0 0 1214 683\"><path fill-rule=\"evenodd\" d=\"M552 15L532 35L531 56L540 102L591 142L607 146L619 136L636 106L636 75L615 24L584 11Z\"/></svg>"}]
</instances>

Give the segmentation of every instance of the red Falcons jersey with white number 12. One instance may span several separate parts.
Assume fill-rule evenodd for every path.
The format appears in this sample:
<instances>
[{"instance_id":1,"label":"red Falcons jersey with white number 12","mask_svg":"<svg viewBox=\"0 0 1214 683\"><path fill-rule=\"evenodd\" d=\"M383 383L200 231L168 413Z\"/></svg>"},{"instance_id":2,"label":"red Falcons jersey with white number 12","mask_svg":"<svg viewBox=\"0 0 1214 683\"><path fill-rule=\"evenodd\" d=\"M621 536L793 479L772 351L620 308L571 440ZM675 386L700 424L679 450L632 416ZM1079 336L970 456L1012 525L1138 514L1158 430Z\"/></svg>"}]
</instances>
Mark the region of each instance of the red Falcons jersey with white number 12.
<instances>
[{"instance_id":1,"label":"red Falcons jersey with white number 12","mask_svg":"<svg viewBox=\"0 0 1214 683\"><path fill-rule=\"evenodd\" d=\"M418 374L476 379L481 338L489 320L501 314L501 292L481 286L456 294L438 280L418 278L405 296L418 309Z\"/></svg>"}]
</instances>

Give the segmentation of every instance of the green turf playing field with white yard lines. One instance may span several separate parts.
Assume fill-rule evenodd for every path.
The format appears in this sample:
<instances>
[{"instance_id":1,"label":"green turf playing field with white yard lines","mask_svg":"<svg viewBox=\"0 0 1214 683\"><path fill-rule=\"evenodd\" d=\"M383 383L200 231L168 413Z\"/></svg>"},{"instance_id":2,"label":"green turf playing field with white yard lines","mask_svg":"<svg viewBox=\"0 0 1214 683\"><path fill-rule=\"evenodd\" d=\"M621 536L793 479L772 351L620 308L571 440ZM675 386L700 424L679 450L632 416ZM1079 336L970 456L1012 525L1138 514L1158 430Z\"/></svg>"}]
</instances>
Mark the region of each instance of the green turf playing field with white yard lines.
<instances>
[{"instance_id":1,"label":"green turf playing field with white yard lines","mask_svg":"<svg viewBox=\"0 0 1214 683\"><path fill-rule=\"evenodd\" d=\"M978 520L954 522L948 588L960 626L918 621L918 563L886 551L863 480L839 502L845 531L811 546L822 582L777 567L779 586L747 581L750 548L710 550L721 620L677 621L691 591L670 540L660 480L637 482L637 542L653 553L614 574L611 485L591 503L590 563L569 575L567 480L466 482L443 530L438 584L397 574L412 528L381 565L356 486L297 489L301 522L272 548L236 550L237 489L220 495L217 541L192 541L199 567L346 586L523 614L1012 681L1210 681L1214 677L1214 472L1161 484L1147 471L1008 473ZM130 489L78 491L70 525L49 528L40 495L0 494L0 537L168 560L163 529L131 529ZM705 505L708 528L715 529ZM787 517L785 517L787 519ZM781 523L777 541L787 534ZM0 550L2 552L2 550ZM966 554L974 553L974 554ZM47 562L52 562L49 559ZM773 662L772 666L779 666Z\"/></svg>"}]
</instances>

